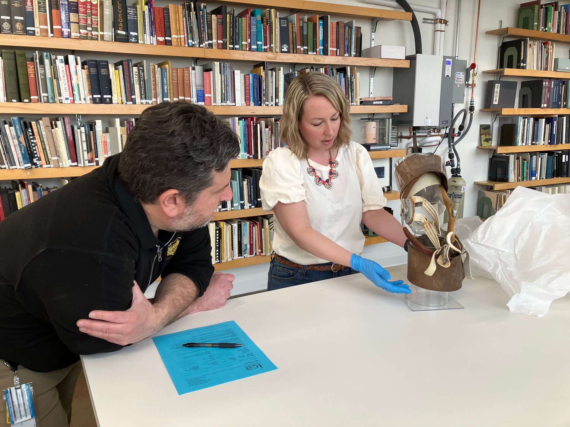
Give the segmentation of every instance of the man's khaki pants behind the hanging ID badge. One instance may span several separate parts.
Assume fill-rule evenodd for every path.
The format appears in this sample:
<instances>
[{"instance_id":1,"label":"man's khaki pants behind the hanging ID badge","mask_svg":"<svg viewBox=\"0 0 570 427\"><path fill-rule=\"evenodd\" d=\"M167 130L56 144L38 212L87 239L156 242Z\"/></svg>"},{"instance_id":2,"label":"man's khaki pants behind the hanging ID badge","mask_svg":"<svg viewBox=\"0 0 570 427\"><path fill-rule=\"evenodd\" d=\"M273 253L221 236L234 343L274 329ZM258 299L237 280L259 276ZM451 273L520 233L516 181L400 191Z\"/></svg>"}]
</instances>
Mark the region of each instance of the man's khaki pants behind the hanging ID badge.
<instances>
[{"instance_id":1,"label":"man's khaki pants behind the hanging ID badge","mask_svg":"<svg viewBox=\"0 0 570 427\"><path fill-rule=\"evenodd\" d=\"M71 422L71 401L81 372L81 362L51 372L18 368L20 384L34 387L35 414L41 427L66 427ZM0 392L14 385L14 372L0 359ZM6 402L0 398L0 425L6 422Z\"/></svg>"}]
</instances>

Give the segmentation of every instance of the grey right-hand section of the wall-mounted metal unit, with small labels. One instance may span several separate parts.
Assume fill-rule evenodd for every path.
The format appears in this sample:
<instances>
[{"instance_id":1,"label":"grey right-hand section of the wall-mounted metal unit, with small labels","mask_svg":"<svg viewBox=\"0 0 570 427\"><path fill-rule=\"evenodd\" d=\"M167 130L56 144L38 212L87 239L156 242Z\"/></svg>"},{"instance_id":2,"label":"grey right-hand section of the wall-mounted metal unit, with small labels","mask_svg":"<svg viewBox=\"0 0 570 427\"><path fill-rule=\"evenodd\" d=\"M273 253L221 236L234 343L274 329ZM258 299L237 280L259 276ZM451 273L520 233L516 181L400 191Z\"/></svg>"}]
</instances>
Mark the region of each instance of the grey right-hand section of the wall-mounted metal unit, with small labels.
<instances>
[{"instance_id":1,"label":"grey right-hand section of the wall-mounted metal unit, with small labels","mask_svg":"<svg viewBox=\"0 0 570 427\"><path fill-rule=\"evenodd\" d=\"M439 106L439 125L449 126L451 122L451 104L465 103L465 79L467 61L455 59L455 56L443 56L441 75L441 98Z\"/></svg>"}]
</instances>

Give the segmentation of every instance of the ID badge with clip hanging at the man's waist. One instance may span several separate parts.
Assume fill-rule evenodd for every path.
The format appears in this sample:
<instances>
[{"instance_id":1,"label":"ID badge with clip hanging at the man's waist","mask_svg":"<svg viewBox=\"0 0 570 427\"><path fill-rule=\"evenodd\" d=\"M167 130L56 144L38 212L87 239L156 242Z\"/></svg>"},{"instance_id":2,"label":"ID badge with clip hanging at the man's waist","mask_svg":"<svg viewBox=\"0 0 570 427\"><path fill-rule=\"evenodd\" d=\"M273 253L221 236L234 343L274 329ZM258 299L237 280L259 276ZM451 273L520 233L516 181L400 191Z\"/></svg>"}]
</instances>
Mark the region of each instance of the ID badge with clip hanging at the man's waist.
<instances>
[{"instance_id":1,"label":"ID badge with clip hanging at the man's waist","mask_svg":"<svg viewBox=\"0 0 570 427\"><path fill-rule=\"evenodd\" d=\"M20 384L18 372L9 364L5 364L14 371L14 387L2 390L2 400L6 402L6 424L18 427L38 427L32 383Z\"/></svg>"}]
</instances>

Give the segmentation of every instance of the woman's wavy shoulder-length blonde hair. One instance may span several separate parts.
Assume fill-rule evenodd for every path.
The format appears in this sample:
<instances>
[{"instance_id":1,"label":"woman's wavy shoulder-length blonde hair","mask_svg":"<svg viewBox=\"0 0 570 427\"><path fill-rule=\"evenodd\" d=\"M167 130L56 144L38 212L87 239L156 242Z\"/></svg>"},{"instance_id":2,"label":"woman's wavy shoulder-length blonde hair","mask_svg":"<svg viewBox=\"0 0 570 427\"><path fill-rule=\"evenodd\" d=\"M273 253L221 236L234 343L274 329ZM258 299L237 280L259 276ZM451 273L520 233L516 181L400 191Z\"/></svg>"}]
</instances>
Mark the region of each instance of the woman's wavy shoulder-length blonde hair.
<instances>
[{"instance_id":1,"label":"woman's wavy shoulder-length blonde hair","mask_svg":"<svg viewBox=\"0 0 570 427\"><path fill-rule=\"evenodd\" d=\"M309 150L299 132L299 120L303 116L303 104L311 96L324 96L340 113L339 133L331 150L348 145L352 135L350 106L339 84L331 77L317 71L295 77L283 102L280 138L300 159L308 158Z\"/></svg>"}]
</instances>

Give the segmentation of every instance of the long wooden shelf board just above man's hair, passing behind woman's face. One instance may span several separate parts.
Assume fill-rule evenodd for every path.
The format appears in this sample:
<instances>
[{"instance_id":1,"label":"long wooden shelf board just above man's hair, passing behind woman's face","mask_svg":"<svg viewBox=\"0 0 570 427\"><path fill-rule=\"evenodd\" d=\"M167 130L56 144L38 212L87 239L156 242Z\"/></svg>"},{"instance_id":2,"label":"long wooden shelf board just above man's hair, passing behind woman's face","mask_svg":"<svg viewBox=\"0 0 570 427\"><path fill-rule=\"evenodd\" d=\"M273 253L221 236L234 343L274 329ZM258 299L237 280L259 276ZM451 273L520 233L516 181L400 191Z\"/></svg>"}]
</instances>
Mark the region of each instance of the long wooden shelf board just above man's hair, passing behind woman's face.
<instances>
[{"instance_id":1,"label":"long wooden shelf board just above man's hair, passing behind woman's face","mask_svg":"<svg viewBox=\"0 0 570 427\"><path fill-rule=\"evenodd\" d=\"M92 114L95 116L138 116L146 104L47 104L42 102L0 102L0 114ZM205 105L217 116L280 116L282 106ZM352 105L351 114L405 113L408 105Z\"/></svg>"}]
</instances>

